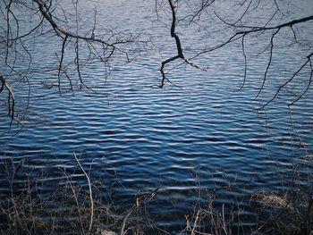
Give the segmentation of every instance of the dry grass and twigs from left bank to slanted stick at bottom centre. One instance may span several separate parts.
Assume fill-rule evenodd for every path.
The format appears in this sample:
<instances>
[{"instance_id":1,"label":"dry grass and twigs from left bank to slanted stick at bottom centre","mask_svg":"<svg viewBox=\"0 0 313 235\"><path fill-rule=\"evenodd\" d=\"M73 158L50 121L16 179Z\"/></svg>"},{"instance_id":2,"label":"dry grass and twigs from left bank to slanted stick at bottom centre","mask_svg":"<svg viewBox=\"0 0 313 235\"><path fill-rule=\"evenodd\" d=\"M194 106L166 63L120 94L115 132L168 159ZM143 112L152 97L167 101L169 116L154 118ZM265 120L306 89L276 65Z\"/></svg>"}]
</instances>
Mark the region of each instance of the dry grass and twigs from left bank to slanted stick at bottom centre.
<instances>
[{"instance_id":1,"label":"dry grass and twigs from left bank to slanted stick at bottom centre","mask_svg":"<svg viewBox=\"0 0 313 235\"><path fill-rule=\"evenodd\" d=\"M145 234L147 228L162 231L149 221L147 210L159 187L131 198L133 206L119 214L112 199L103 196L106 189L102 180L92 181L91 171L83 169L78 156L73 157L77 163L74 174L80 174L80 180L58 169L62 177L56 180L52 193L50 185L48 193L42 190L50 180L44 174L31 177L11 159L1 164L1 170L8 175L10 193L1 198L0 234Z\"/></svg>"}]
</instances>

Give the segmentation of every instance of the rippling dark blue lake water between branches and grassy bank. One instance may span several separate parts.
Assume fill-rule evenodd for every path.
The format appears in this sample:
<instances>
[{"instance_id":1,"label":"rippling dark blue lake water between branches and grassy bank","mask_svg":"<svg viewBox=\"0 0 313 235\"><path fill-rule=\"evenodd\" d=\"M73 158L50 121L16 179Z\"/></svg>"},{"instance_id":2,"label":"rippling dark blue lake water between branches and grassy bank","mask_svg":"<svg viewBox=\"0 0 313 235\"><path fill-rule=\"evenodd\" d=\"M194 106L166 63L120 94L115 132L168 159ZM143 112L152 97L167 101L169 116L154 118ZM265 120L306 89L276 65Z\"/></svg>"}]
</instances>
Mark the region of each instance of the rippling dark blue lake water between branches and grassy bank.
<instances>
[{"instance_id":1,"label":"rippling dark blue lake water between branches and grassy bank","mask_svg":"<svg viewBox=\"0 0 313 235\"><path fill-rule=\"evenodd\" d=\"M149 212L158 226L180 231L185 226L184 215L192 214L197 201L207 199L207 195L199 198L201 189L216 195L216 208L240 201L247 215L244 225L249 227L255 222L251 195L258 189L285 189L282 177L292 171L297 158L313 150L311 89L292 106L292 113L287 106L308 83L309 70L265 110L256 110L299 68L307 49L285 49L292 38L283 31L268 82L258 98L268 62L268 55L255 56L268 44L263 36L250 39L248 78L241 91L236 91L244 67L240 44L198 58L197 63L208 66L207 72L188 66L173 69L167 76L174 86L166 83L165 88L158 88L160 63L174 53L173 41L167 36L167 12L155 21L153 3L130 2L100 4L106 25L99 24L99 28L117 27L124 33L140 29L142 37L152 37L159 48L142 50L132 63L117 58L107 80L103 65L88 64L83 75L94 91L75 90L74 96L65 90L59 96L57 90L46 89L53 77L36 73L30 78L28 128L12 138L15 125L9 131L6 110L1 111L2 165L12 159L30 175L46 173L41 190L49 193L67 176L84 180L77 173L75 152L86 170L91 169L91 179L104 179L121 211L133 205L140 191L161 186ZM84 7L90 10L89 4ZM106 14L112 12L114 17ZM188 29L190 33L182 35L187 55L214 42L214 37L207 36L205 42L202 32L197 35L194 28ZM312 37L312 30L298 30L303 38ZM53 64L54 44L29 46L38 55L33 59L38 68ZM17 88L17 94L26 97L28 88L22 84ZM19 105L25 104L21 99ZM67 169L67 176L60 169ZM5 171L0 176L0 194L5 195L10 178ZM14 180L24 180L22 173L19 177Z\"/></svg>"}]
</instances>

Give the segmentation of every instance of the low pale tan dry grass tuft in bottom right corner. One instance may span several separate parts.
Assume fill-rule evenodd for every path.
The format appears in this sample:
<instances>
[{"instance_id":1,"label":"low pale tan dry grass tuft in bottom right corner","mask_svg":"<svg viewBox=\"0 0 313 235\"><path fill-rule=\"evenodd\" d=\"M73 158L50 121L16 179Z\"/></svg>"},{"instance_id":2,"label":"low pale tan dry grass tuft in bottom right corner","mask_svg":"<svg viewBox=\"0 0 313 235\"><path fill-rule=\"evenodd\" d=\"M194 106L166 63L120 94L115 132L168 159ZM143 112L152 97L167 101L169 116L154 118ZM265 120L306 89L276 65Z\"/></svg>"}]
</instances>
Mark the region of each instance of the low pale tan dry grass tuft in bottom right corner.
<instances>
[{"instance_id":1,"label":"low pale tan dry grass tuft in bottom right corner","mask_svg":"<svg viewBox=\"0 0 313 235\"><path fill-rule=\"evenodd\" d=\"M313 200L292 192L274 194L260 191L253 200L258 203L259 226L266 234L313 234Z\"/></svg>"}]
</instances>

